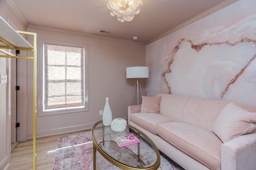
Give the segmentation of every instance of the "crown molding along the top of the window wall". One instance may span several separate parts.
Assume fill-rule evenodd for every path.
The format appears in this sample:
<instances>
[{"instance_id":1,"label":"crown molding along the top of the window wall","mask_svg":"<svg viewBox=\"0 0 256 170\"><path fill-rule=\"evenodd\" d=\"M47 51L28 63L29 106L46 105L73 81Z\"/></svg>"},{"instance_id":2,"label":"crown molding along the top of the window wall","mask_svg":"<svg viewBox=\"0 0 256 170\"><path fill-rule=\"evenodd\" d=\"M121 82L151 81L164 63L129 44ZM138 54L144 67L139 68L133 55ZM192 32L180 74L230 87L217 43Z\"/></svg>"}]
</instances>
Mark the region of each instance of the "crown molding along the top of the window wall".
<instances>
[{"instance_id":1,"label":"crown molding along the top of the window wall","mask_svg":"<svg viewBox=\"0 0 256 170\"><path fill-rule=\"evenodd\" d=\"M104 36L100 36L100 35L80 33L80 32L76 32L76 31L68 31L68 30L64 30L64 29L56 29L56 28L50 28L50 27L44 27L44 26L38 26L38 25L32 25L32 24L28 25L28 28L38 29L38 30L43 30L43 31L52 31L52 32L57 32L57 33L65 33L65 34L70 34L70 35L78 35L78 36L88 37L88 38L106 39L106 40L111 40L111 41L119 41L119 42L122 41L122 42L126 42L126 43L136 43L136 44L146 45L145 43L142 43L142 42L134 42L134 41L130 41L130 40L104 37Z\"/></svg>"}]
</instances>

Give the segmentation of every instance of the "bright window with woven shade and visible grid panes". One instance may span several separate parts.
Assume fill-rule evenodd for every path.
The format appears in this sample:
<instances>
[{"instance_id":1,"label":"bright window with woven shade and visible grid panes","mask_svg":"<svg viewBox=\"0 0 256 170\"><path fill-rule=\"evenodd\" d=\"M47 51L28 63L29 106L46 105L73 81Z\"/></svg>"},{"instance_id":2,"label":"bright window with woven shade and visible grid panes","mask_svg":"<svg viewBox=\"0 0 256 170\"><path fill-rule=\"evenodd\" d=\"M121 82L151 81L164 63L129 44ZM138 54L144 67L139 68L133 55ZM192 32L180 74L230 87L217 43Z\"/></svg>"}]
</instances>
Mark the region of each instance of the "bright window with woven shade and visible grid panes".
<instances>
[{"instance_id":1,"label":"bright window with woven shade and visible grid panes","mask_svg":"<svg viewBox=\"0 0 256 170\"><path fill-rule=\"evenodd\" d=\"M87 111L86 47L42 43L42 113Z\"/></svg>"}]
</instances>

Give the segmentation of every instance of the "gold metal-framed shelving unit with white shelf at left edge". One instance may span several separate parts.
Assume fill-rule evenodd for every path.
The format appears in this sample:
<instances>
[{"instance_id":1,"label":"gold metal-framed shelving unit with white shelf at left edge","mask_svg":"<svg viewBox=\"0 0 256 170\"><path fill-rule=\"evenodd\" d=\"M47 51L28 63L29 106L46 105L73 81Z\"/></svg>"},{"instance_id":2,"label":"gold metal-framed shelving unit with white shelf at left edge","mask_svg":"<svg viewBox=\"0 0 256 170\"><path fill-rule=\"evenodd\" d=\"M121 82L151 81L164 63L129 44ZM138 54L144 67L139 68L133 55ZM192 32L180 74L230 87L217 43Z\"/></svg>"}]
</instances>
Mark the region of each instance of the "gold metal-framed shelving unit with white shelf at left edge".
<instances>
[{"instance_id":1,"label":"gold metal-framed shelving unit with white shelf at left edge","mask_svg":"<svg viewBox=\"0 0 256 170\"><path fill-rule=\"evenodd\" d=\"M34 60L33 74L33 170L36 170L36 33L16 31L0 16L0 57ZM32 46L20 34L34 36ZM16 56L7 49L33 51L33 57Z\"/></svg>"}]
</instances>

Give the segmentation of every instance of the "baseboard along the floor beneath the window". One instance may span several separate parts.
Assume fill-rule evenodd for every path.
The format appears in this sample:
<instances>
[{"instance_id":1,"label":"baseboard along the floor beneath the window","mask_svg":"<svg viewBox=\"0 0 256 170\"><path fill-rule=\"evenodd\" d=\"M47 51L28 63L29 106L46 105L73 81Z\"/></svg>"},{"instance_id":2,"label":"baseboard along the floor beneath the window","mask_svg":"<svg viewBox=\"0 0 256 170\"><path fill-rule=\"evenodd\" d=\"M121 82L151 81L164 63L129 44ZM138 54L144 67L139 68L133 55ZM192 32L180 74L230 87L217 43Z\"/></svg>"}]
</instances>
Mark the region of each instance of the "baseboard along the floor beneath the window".
<instances>
[{"instance_id":1,"label":"baseboard along the floor beneath the window","mask_svg":"<svg viewBox=\"0 0 256 170\"><path fill-rule=\"evenodd\" d=\"M68 127L60 127L56 129L47 129L44 131L36 131L36 137L45 137L51 135L58 135L62 133L69 133L75 131L82 131L85 129L92 129L94 123L82 124L82 125L75 125L75 126L68 126ZM33 132L27 134L27 139L33 139Z\"/></svg>"}]
</instances>

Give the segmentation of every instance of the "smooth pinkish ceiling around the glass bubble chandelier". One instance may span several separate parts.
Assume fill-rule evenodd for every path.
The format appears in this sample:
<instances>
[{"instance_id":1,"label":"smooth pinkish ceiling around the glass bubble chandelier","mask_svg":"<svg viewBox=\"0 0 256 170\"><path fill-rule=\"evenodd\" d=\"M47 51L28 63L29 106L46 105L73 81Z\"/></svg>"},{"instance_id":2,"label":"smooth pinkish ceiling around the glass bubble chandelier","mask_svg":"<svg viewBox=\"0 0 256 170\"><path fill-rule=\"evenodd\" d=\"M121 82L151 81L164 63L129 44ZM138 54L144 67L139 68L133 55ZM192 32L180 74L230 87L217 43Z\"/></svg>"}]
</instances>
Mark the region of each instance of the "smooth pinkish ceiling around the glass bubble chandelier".
<instances>
[{"instance_id":1,"label":"smooth pinkish ceiling around the glass bubble chandelier","mask_svg":"<svg viewBox=\"0 0 256 170\"><path fill-rule=\"evenodd\" d=\"M137 42L148 44L181 24L186 25L237 0L143 0L140 13L130 22L120 22L110 15L109 0L8 1L31 25L131 41L137 36Z\"/></svg>"}]
</instances>

